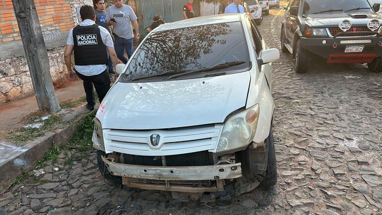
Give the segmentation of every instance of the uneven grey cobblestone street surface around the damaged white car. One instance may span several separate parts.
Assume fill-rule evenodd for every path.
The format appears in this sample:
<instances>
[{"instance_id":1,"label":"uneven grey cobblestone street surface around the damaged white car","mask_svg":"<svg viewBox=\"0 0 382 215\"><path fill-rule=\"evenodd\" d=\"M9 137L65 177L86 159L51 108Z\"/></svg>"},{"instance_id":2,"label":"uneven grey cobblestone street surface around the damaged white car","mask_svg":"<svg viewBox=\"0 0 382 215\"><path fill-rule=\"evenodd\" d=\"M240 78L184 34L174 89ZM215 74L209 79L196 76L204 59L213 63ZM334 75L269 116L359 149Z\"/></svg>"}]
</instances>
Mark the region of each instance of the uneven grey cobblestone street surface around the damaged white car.
<instances>
[{"instance_id":1,"label":"uneven grey cobblestone street surface around the damaged white car","mask_svg":"<svg viewBox=\"0 0 382 215\"><path fill-rule=\"evenodd\" d=\"M272 9L259 26L270 48L280 49L282 19L282 9ZM95 151L67 165L79 153L73 149L46 163L45 183L21 183L0 196L0 208L8 215L382 215L382 74L322 59L298 74L292 55L280 55L272 64L278 164L272 189L179 202L170 192L104 182Z\"/></svg>"}]
</instances>

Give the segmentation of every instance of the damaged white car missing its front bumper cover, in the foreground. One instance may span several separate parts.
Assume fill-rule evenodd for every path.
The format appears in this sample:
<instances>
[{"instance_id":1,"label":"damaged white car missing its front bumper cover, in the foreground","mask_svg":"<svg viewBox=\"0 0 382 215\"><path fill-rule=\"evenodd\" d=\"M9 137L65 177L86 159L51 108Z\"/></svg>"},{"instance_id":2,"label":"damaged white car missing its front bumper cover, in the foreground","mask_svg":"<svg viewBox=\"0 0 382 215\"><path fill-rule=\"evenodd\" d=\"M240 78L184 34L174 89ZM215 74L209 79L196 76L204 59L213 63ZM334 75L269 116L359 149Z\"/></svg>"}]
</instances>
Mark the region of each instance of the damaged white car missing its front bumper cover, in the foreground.
<instances>
[{"instance_id":1,"label":"damaged white car missing its front bumper cover, in the foreground","mask_svg":"<svg viewBox=\"0 0 382 215\"><path fill-rule=\"evenodd\" d=\"M120 76L94 119L99 170L128 187L174 195L274 185L271 62L278 58L248 13L151 31L116 68Z\"/></svg>"}]
</instances>

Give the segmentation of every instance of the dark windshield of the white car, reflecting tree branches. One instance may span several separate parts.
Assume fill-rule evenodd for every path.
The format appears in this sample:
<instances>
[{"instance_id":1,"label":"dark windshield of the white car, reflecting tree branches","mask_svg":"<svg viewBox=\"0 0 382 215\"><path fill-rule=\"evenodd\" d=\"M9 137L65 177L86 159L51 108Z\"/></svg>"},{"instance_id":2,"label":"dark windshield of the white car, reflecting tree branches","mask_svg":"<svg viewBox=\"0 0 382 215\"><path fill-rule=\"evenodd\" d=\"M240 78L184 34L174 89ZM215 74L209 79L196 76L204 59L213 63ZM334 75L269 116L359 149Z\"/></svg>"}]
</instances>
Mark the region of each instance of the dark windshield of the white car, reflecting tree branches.
<instances>
[{"instance_id":1,"label":"dark windshield of the white car, reflecting tree branches","mask_svg":"<svg viewBox=\"0 0 382 215\"><path fill-rule=\"evenodd\" d=\"M200 77L216 71L221 75L248 71L250 66L240 22L201 25L151 34L136 50L120 81Z\"/></svg>"}]
</instances>

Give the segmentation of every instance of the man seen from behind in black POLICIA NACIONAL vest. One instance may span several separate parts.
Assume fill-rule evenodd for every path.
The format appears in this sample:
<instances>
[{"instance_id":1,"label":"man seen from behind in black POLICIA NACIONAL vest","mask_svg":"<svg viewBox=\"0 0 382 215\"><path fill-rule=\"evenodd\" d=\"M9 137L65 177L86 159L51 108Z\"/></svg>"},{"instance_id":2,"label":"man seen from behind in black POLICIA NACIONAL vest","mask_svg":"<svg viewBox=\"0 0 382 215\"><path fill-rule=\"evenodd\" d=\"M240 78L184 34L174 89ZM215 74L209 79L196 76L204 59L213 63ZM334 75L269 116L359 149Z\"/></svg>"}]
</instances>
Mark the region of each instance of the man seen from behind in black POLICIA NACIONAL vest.
<instances>
[{"instance_id":1,"label":"man seen from behind in black POLICIA NACIONAL vest","mask_svg":"<svg viewBox=\"0 0 382 215\"><path fill-rule=\"evenodd\" d=\"M107 51L114 67L117 65L118 59L109 31L95 24L94 8L84 5L81 6L79 13L83 22L69 31L64 59L69 78L73 79L74 74L77 74L83 80L87 101L86 108L94 110L93 84L100 102L110 89L110 78L106 67L108 63ZM74 71L71 68L73 50Z\"/></svg>"}]
</instances>

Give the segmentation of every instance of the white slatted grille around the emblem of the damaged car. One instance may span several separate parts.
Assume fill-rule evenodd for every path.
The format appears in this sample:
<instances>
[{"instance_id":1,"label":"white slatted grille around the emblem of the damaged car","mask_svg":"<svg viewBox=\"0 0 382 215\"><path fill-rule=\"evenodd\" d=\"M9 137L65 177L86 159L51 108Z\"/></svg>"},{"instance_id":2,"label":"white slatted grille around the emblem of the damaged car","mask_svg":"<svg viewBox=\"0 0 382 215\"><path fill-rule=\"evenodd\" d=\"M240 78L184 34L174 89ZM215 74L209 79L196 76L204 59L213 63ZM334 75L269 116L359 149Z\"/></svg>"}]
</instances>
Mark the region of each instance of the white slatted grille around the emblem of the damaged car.
<instances>
[{"instance_id":1,"label":"white slatted grille around the emblem of the damaged car","mask_svg":"<svg viewBox=\"0 0 382 215\"><path fill-rule=\"evenodd\" d=\"M104 130L107 150L136 155L171 155L214 149L221 125L170 130L132 131ZM159 144L153 146L151 135L159 135Z\"/></svg>"}]
</instances>

